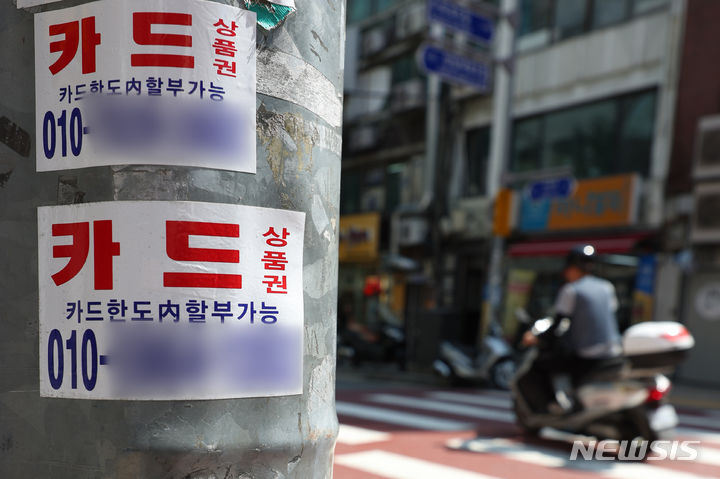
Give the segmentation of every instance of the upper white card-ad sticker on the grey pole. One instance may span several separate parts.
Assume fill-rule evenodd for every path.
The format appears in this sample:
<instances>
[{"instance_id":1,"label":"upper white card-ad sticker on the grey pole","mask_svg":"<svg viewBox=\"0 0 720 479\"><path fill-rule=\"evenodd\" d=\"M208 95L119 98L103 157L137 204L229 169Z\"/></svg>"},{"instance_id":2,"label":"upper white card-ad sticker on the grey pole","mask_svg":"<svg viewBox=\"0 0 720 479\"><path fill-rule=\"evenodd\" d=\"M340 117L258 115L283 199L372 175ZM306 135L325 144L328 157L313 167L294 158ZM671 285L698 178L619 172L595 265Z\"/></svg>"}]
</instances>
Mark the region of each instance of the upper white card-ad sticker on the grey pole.
<instances>
[{"instance_id":1,"label":"upper white card-ad sticker on the grey pole","mask_svg":"<svg viewBox=\"0 0 720 479\"><path fill-rule=\"evenodd\" d=\"M254 12L102 0L35 15L38 171L255 172Z\"/></svg>"}]
</instances>

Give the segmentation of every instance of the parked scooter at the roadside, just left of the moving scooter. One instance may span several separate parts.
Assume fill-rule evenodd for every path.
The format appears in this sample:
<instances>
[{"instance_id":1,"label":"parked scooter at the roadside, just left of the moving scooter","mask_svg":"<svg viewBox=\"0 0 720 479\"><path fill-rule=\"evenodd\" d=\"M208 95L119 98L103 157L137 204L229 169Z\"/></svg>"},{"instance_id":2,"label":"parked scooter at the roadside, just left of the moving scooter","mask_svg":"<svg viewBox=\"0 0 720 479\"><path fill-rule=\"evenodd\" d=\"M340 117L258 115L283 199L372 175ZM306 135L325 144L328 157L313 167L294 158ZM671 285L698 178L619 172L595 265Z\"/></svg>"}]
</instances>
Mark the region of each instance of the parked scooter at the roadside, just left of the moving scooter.
<instances>
[{"instance_id":1,"label":"parked scooter at the roadside, just left of the moving scooter","mask_svg":"<svg viewBox=\"0 0 720 479\"><path fill-rule=\"evenodd\" d=\"M440 343L433 369L454 384L487 381L507 390L517 369L515 349L503 337L500 326L493 322L479 350L450 341Z\"/></svg>"}]
</instances>

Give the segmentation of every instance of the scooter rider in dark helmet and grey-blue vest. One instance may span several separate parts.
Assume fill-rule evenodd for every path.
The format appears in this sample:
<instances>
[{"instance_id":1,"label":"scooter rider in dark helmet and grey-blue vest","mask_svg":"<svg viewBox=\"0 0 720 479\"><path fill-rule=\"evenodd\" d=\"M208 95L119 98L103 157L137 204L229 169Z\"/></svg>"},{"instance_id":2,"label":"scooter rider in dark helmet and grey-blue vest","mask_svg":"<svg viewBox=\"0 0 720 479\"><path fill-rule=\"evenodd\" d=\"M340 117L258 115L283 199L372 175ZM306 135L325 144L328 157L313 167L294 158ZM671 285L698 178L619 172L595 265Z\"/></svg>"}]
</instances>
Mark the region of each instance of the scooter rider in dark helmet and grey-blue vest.
<instances>
[{"instance_id":1,"label":"scooter rider in dark helmet and grey-blue vest","mask_svg":"<svg viewBox=\"0 0 720 479\"><path fill-rule=\"evenodd\" d=\"M582 245L567 255L563 275L567 283L560 289L555 302L555 322L544 334L556 334L564 318L569 328L555 350L548 351L537 362L537 371L552 381L555 404L551 412L568 412L575 408L570 394L571 382L592 370L618 362L622 343L615 312L618 301L615 287L607 280L592 274L595 248ZM537 343L529 334L526 344Z\"/></svg>"}]
</instances>

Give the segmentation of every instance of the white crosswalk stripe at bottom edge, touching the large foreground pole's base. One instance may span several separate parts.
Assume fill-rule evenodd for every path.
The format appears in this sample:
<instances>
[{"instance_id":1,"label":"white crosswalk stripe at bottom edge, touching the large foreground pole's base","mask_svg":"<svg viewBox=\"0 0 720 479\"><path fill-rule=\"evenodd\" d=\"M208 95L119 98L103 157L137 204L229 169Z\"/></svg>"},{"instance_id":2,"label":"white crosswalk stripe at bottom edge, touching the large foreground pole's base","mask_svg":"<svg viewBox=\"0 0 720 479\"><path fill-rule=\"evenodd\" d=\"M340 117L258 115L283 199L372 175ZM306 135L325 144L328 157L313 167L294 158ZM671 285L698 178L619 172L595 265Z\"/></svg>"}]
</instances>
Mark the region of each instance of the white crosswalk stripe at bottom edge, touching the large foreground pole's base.
<instances>
[{"instance_id":1,"label":"white crosswalk stripe at bottom edge, touching the large foreground pole's base","mask_svg":"<svg viewBox=\"0 0 720 479\"><path fill-rule=\"evenodd\" d=\"M335 463L389 479L497 479L392 452L373 450L342 454Z\"/></svg>"}]
</instances>

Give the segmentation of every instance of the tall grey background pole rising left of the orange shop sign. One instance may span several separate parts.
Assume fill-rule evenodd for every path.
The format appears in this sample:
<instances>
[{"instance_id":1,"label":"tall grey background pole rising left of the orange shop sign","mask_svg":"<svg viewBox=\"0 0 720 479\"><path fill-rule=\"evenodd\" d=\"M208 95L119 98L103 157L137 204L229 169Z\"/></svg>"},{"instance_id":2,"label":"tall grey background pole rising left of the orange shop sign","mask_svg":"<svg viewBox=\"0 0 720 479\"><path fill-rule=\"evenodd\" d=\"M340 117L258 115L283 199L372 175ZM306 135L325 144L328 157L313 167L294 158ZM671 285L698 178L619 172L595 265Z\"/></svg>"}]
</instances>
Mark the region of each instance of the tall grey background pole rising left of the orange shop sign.
<instances>
[{"instance_id":1,"label":"tall grey background pole rising left of the orange shop sign","mask_svg":"<svg viewBox=\"0 0 720 479\"><path fill-rule=\"evenodd\" d=\"M504 172L510 161L512 139L512 111L515 70L515 29L518 18L517 0L502 0L497 25L496 68L493 87L493 120L490 140L490 159L487 174L487 196L497 201L503 186ZM487 292L484 295L483 326L499 320L502 297L502 259L504 240L493 236L488 259ZM479 329L478 342L485 334Z\"/></svg>"}]
</instances>

